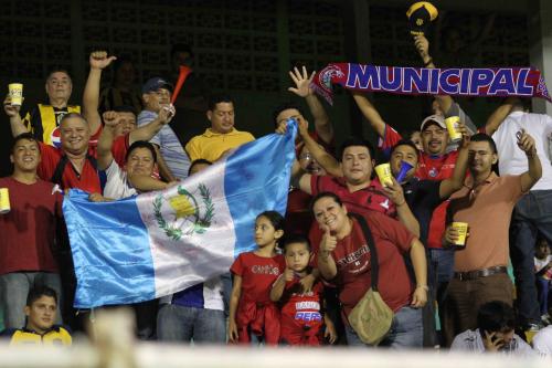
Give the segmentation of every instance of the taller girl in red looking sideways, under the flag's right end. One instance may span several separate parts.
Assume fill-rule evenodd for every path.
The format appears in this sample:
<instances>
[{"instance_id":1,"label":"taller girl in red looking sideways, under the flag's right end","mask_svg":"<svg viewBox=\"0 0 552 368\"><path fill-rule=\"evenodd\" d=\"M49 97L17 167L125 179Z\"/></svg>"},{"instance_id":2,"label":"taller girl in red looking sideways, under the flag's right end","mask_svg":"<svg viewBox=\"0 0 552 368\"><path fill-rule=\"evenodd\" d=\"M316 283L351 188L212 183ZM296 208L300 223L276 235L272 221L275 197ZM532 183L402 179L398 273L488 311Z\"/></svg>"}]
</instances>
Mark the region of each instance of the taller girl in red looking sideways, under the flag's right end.
<instances>
[{"instance_id":1,"label":"taller girl in red looking sideways, under the flag's right end","mask_svg":"<svg viewBox=\"0 0 552 368\"><path fill-rule=\"evenodd\" d=\"M284 256L276 253L283 229L284 218L278 212L261 213L255 220L258 249L240 254L230 267L234 275L229 320L229 340L232 343L248 344L254 334L266 345L278 344L279 311L269 293L285 267Z\"/></svg>"}]
</instances>

